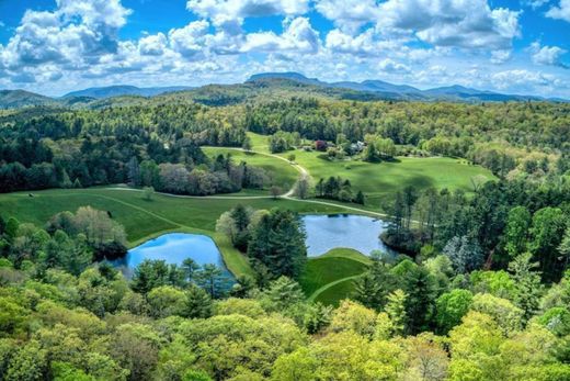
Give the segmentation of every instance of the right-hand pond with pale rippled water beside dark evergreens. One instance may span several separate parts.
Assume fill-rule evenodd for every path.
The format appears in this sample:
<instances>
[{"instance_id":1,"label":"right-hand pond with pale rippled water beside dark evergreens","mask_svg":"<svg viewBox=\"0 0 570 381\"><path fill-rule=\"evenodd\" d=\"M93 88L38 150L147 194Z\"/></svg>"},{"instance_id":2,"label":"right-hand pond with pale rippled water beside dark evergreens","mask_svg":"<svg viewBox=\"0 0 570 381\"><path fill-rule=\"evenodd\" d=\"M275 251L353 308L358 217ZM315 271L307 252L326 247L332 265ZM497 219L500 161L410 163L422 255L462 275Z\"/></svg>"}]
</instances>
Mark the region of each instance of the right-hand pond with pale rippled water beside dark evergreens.
<instances>
[{"instance_id":1,"label":"right-hand pond with pale rippled water beside dark evergreens","mask_svg":"<svg viewBox=\"0 0 570 381\"><path fill-rule=\"evenodd\" d=\"M365 255L373 250L397 254L378 238L388 227L385 221L355 214L304 215L301 221L307 232L309 257L319 256L335 247L352 248Z\"/></svg>"}]
</instances>

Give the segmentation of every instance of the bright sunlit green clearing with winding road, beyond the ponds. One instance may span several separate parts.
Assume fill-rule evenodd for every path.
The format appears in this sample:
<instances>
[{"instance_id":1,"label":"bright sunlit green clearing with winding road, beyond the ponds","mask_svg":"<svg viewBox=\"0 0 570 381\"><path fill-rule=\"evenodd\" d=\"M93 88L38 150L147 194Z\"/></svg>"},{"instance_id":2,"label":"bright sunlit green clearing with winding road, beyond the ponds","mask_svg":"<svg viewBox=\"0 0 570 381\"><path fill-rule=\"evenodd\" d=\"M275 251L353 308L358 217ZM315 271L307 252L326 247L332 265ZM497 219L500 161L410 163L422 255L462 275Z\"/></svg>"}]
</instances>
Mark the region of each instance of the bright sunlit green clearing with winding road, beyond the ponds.
<instances>
[{"instance_id":1,"label":"bright sunlit green clearing with winding road, beyond the ponds","mask_svg":"<svg viewBox=\"0 0 570 381\"><path fill-rule=\"evenodd\" d=\"M248 133L248 136L251 138L253 150L269 153L266 136L253 133ZM228 149L208 147L205 152L214 156L218 153L225 154ZM236 161L246 158L249 164L264 167L274 173L277 183L294 182L297 177L297 173L292 171L294 168L287 168L285 163L270 156L259 155L248 159L249 154L239 150L232 153L236 154ZM326 153L301 149L289 150L278 156L287 158L290 154L295 155L295 163L305 168L314 181L331 176L349 179L353 191L363 191L367 197L367 206L375 210L385 206L396 192L408 186L417 189L461 189L470 193L474 177L481 175L489 180L495 179L491 171L481 166L449 157L397 157L394 161L367 163L358 159L329 160Z\"/></svg>"}]
</instances>

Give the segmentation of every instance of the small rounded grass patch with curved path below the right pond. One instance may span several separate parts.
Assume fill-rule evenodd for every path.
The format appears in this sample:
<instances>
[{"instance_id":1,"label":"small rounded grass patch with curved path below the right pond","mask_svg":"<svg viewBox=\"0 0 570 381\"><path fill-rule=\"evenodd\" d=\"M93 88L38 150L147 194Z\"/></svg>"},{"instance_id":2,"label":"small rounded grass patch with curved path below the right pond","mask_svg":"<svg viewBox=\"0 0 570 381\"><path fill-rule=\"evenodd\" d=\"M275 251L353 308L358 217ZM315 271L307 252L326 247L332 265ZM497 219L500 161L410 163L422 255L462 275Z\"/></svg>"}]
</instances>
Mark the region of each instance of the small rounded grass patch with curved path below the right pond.
<instances>
[{"instance_id":1,"label":"small rounded grass patch with curved path below the right pond","mask_svg":"<svg viewBox=\"0 0 570 381\"><path fill-rule=\"evenodd\" d=\"M338 305L349 298L353 281L364 273L371 259L350 248L335 248L309 258L299 283L309 300Z\"/></svg>"}]
</instances>

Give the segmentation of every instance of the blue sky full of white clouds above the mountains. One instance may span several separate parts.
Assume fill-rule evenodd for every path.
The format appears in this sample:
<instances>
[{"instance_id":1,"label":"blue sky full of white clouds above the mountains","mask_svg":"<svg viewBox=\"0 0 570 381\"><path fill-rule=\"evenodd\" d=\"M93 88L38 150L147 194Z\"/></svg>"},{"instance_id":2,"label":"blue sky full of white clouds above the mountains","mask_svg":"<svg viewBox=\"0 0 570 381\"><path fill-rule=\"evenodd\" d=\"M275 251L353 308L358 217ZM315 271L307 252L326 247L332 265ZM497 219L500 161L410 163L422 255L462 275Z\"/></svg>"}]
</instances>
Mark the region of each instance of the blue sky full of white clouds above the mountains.
<instances>
[{"instance_id":1,"label":"blue sky full of white clouds above the mountains","mask_svg":"<svg viewBox=\"0 0 570 381\"><path fill-rule=\"evenodd\" d=\"M570 98L570 0L0 0L0 88L261 71Z\"/></svg>"}]
</instances>

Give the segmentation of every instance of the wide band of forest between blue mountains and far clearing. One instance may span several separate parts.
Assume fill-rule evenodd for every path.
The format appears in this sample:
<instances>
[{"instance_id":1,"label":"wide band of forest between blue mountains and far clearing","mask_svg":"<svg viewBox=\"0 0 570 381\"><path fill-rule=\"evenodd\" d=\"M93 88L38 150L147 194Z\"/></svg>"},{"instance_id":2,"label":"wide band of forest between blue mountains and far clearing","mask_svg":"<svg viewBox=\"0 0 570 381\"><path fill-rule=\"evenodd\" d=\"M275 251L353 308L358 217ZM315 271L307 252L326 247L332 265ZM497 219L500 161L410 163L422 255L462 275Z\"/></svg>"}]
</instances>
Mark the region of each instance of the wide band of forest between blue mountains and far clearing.
<instances>
[{"instance_id":1,"label":"wide band of forest between blue mountains and far clearing","mask_svg":"<svg viewBox=\"0 0 570 381\"><path fill-rule=\"evenodd\" d=\"M540 179L568 169L568 103L356 102L300 93L208 107L175 94L128 105L110 100L95 110L3 112L2 190L126 182L133 158L192 170L205 163L197 146L240 147L247 131L345 145L384 139L396 155L464 157L501 177ZM352 154L345 145L342 155Z\"/></svg>"}]
</instances>

